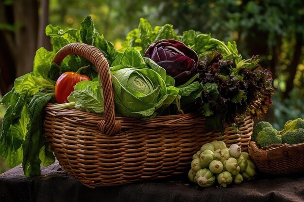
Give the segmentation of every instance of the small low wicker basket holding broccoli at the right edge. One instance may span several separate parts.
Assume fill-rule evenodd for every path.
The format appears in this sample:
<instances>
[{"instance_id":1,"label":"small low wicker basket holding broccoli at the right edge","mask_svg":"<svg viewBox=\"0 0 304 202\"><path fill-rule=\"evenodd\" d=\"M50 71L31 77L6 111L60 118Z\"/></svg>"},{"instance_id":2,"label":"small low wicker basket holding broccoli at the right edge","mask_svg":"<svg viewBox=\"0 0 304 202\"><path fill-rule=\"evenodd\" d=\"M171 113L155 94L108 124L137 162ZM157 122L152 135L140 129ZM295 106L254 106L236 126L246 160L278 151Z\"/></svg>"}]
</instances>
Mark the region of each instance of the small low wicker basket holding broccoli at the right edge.
<instances>
[{"instance_id":1,"label":"small low wicker basket holding broccoli at the right edge","mask_svg":"<svg viewBox=\"0 0 304 202\"><path fill-rule=\"evenodd\" d=\"M304 171L304 143L271 144L260 148L250 141L248 153L257 169L264 173L282 175Z\"/></svg>"}]
</instances>

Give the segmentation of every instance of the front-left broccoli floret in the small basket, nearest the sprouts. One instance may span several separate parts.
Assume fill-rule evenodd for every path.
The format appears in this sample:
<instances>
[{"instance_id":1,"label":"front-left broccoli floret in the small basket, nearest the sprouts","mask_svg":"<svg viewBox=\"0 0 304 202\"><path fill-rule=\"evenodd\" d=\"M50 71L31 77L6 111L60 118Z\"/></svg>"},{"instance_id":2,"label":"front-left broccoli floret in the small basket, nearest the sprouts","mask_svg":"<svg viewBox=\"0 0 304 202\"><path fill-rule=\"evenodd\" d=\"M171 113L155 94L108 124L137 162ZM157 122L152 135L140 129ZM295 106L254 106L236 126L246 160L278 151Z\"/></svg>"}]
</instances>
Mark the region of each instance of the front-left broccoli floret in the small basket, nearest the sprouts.
<instances>
[{"instance_id":1,"label":"front-left broccoli floret in the small basket, nearest the sprouts","mask_svg":"<svg viewBox=\"0 0 304 202\"><path fill-rule=\"evenodd\" d=\"M257 134L256 143L261 147L265 147L270 144L280 144L282 139L275 128L265 127Z\"/></svg>"}]
</instances>

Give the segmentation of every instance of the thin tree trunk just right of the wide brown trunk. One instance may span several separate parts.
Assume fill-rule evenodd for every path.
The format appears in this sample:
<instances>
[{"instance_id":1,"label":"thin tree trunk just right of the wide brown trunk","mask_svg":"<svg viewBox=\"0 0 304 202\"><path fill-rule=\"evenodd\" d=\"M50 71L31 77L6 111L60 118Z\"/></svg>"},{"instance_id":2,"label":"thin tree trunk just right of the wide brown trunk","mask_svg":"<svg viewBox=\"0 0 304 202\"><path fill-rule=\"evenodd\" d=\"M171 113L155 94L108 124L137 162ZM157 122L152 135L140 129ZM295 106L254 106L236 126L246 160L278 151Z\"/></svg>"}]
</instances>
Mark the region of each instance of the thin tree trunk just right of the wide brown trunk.
<instances>
[{"instance_id":1,"label":"thin tree trunk just right of the wide brown trunk","mask_svg":"<svg viewBox=\"0 0 304 202\"><path fill-rule=\"evenodd\" d=\"M44 47L45 49L50 51L50 37L45 34L45 28L49 24L49 0L41 0L40 8L42 10L42 14L39 19L37 49L40 47Z\"/></svg>"}]
</instances>

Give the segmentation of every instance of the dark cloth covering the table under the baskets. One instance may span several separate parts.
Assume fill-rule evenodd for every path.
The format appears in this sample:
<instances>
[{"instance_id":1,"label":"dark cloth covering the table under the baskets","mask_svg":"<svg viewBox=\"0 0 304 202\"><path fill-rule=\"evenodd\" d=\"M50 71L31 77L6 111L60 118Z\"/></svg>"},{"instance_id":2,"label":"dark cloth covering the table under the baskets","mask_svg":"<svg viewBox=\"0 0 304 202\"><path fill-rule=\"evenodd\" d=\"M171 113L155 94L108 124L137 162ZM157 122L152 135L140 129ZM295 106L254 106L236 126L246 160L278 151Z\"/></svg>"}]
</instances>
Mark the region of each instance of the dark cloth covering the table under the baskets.
<instances>
[{"instance_id":1,"label":"dark cloth covering the table under the baskets","mask_svg":"<svg viewBox=\"0 0 304 202\"><path fill-rule=\"evenodd\" d=\"M304 174L256 175L240 185L198 187L187 174L165 180L90 189L56 161L41 176L26 178L21 166L0 175L0 202L304 202Z\"/></svg>"}]
</instances>

